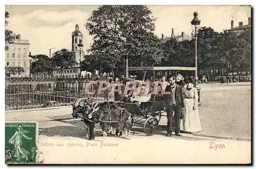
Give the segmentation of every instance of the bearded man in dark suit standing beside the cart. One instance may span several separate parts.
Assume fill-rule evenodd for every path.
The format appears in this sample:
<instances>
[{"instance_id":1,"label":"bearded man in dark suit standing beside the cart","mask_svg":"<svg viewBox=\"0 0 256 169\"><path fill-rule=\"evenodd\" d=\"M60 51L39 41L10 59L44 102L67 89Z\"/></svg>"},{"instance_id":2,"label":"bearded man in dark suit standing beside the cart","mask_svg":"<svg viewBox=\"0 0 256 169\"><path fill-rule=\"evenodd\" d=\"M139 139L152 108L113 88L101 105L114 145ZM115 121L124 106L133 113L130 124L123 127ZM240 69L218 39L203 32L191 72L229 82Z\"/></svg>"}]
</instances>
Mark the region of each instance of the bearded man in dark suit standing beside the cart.
<instances>
[{"instance_id":1,"label":"bearded man in dark suit standing beside the cart","mask_svg":"<svg viewBox=\"0 0 256 169\"><path fill-rule=\"evenodd\" d=\"M165 90L165 104L167 111L167 134L166 136L172 135L172 122L173 122L173 111L175 119L175 135L180 135L180 115L181 110L184 107L183 90L180 85L175 83L175 76L169 78L170 85Z\"/></svg>"}]
</instances>

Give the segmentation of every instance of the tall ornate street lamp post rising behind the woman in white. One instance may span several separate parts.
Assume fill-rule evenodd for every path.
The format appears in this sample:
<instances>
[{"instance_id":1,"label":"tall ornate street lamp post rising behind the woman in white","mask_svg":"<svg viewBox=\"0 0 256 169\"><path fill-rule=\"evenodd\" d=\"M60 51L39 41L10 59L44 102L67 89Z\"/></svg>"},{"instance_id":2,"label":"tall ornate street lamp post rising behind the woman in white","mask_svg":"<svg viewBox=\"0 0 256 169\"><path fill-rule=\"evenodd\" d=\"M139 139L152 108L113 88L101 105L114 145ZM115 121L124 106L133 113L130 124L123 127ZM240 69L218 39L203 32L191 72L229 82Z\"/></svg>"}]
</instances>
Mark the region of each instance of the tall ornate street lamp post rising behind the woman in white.
<instances>
[{"instance_id":1,"label":"tall ornate street lamp post rising behind the woman in white","mask_svg":"<svg viewBox=\"0 0 256 169\"><path fill-rule=\"evenodd\" d=\"M198 13L194 12L194 19L191 21L191 26L192 26L193 32L195 32L195 67L196 67L196 70L195 70L195 88L197 88L197 91L198 91L198 103L200 105L200 90L201 89L198 86L198 74L197 74L197 31L200 27L201 20L199 20L197 18L197 16L198 16ZM194 29L193 29L193 26L194 26Z\"/></svg>"}]
</instances>

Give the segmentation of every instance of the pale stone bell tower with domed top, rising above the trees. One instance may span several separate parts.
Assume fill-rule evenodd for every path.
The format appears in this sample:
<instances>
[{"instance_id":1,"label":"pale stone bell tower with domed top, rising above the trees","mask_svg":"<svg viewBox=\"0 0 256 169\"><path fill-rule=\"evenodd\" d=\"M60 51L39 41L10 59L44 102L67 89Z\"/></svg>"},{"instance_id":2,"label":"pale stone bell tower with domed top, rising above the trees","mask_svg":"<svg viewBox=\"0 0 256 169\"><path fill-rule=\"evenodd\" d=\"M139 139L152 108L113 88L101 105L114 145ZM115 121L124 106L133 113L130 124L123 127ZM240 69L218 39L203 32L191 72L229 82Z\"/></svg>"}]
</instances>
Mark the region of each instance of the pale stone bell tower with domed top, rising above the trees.
<instances>
[{"instance_id":1,"label":"pale stone bell tower with domed top, rising above the trees","mask_svg":"<svg viewBox=\"0 0 256 169\"><path fill-rule=\"evenodd\" d=\"M79 42L82 43L82 33L79 31L79 25L76 24L75 31L72 33L72 52L75 58L75 61L79 64L80 63L80 49L79 49ZM84 52L81 52L81 62L84 60Z\"/></svg>"}]
</instances>

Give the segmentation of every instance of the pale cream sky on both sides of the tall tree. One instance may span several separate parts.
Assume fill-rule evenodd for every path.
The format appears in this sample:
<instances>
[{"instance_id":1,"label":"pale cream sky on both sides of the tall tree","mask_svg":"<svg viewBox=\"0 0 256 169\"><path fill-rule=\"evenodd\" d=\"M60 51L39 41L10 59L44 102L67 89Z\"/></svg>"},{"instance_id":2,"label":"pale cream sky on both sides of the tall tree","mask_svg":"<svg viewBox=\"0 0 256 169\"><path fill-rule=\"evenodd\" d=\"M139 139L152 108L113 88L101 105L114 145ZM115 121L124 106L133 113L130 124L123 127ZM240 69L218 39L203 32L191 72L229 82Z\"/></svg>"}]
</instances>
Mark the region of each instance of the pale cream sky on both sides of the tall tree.
<instances>
[{"instance_id":1,"label":"pale cream sky on both sides of the tall tree","mask_svg":"<svg viewBox=\"0 0 256 169\"><path fill-rule=\"evenodd\" d=\"M29 40L32 55L49 55L62 48L72 49L71 34L75 24L83 34L84 51L90 47L92 36L89 35L84 23L98 6L6 6L9 12L7 29L20 34ZM184 32L191 34L190 21L193 13L198 12L200 26L212 27L217 32L230 29L231 20L234 27L243 21L248 24L251 17L250 6L147 6L157 18L155 34L160 38L171 36L172 28L175 35Z\"/></svg>"}]
</instances>

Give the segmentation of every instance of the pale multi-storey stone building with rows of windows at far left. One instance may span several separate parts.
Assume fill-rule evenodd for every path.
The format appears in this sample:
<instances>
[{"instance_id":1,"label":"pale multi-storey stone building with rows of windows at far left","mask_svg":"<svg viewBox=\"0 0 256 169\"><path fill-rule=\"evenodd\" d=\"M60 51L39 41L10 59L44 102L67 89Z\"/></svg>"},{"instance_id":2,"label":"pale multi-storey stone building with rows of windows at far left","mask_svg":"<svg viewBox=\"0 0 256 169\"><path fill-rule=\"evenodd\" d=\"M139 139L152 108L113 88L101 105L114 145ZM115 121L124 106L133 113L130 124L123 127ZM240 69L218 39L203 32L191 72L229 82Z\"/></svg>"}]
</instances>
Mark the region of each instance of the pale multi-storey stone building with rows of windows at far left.
<instances>
[{"instance_id":1,"label":"pale multi-storey stone building with rows of windows at far left","mask_svg":"<svg viewBox=\"0 0 256 169\"><path fill-rule=\"evenodd\" d=\"M30 74L30 60L29 60L29 41L22 40L20 34L14 34L14 43L7 44L8 50L5 51L5 66L24 68L22 76L29 76Z\"/></svg>"}]
</instances>

